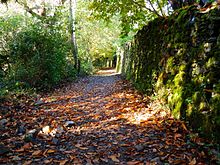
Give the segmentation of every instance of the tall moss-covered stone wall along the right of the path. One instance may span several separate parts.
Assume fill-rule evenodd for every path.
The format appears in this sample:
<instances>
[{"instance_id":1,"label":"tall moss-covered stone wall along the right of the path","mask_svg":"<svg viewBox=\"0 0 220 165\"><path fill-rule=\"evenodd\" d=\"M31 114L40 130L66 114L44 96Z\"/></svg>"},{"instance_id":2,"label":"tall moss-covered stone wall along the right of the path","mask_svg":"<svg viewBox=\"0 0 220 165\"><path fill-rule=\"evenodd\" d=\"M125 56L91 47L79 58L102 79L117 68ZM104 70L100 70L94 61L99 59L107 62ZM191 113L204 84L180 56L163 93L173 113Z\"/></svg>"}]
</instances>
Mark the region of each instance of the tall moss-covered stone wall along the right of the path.
<instances>
[{"instance_id":1,"label":"tall moss-covered stone wall along the right of the path","mask_svg":"<svg viewBox=\"0 0 220 165\"><path fill-rule=\"evenodd\" d=\"M219 33L219 6L181 9L143 27L119 53L118 68L137 88L163 98L176 118L218 139Z\"/></svg>"}]
</instances>

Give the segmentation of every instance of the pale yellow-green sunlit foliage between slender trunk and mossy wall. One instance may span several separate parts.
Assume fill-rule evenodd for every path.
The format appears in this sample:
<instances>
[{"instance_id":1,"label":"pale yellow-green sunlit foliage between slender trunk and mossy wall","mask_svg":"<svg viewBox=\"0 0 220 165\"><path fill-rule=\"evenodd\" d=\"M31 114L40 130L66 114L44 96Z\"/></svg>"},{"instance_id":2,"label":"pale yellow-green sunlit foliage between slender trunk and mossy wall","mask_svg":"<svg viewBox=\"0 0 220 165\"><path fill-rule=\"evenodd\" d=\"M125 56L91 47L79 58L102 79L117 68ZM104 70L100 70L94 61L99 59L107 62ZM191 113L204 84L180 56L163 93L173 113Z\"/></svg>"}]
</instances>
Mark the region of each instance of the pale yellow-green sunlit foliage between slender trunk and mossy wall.
<instances>
[{"instance_id":1,"label":"pale yellow-green sunlit foliage between slender trunk and mossy wall","mask_svg":"<svg viewBox=\"0 0 220 165\"><path fill-rule=\"evenodd\" d=\"M82 70L92 73L94 67L106 65L105 59L113 60L119 43L120 27L118 17L108 23L92 18L89 4L78 1L76 35Z\"/></svg>"}]
</instances>

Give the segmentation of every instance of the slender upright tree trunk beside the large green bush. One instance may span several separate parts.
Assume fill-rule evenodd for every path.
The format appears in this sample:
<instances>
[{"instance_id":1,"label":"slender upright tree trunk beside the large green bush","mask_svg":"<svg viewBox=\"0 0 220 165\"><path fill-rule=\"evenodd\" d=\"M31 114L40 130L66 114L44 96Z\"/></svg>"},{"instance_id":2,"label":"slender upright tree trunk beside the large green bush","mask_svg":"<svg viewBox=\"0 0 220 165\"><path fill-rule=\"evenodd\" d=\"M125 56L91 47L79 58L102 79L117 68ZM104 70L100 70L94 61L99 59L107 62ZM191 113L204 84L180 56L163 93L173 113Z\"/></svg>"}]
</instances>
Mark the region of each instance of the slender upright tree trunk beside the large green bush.
<instances>
[{"instance_id":1,"label":"slender upright tree trunk beside the large green bush","mask_svg":"<svg viewBox=\"0 0 220 165\"><path fill-rule=\"evenodd\" d=\"M70 32L71 32L71 42L72 42L72 54L74 58L74 68L79 72L79 61L78 61L78 48L76 42L76 0L69 1L69 12L70 12Z\"/></svg>"}]
</instances>

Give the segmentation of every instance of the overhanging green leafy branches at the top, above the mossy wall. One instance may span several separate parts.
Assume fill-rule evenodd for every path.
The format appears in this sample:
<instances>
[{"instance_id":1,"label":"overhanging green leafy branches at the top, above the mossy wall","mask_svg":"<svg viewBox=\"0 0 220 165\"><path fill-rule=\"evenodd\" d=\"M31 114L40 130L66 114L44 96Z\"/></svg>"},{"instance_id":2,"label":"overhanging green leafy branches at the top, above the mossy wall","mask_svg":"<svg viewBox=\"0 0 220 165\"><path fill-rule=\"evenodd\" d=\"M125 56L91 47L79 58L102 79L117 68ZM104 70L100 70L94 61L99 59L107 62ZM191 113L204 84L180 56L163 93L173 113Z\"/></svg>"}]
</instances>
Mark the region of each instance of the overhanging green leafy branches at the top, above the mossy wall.
<instances>
[{"instance_id":1,"label":"overhanging green leafy branches at the top, above the mossy wall","mask_svg":"<svg viewBox=\"0 0 220 165\"><path fill-rule=\"evenodd\" d=\"M122 33L136 31L150 20L165 16L166 0L93 0L90 9L98 19L110 20L119 15ZM153 6L153 7L152 7Z\"/></svg>"}]
</instances>

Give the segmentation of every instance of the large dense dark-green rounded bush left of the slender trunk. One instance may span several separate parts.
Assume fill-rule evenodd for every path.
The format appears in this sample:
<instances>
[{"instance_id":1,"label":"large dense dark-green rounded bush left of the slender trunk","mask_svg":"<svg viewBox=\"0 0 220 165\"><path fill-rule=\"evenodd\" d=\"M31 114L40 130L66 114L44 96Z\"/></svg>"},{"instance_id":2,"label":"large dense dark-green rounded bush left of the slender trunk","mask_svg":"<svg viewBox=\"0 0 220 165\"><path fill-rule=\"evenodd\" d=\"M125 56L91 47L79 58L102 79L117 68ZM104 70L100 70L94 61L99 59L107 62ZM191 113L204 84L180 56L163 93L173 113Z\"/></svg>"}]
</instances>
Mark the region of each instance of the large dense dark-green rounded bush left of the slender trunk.
<instances>
[{"instance_id":1,"label":"large dense dark-green rounded bush left of the slender trunk","mask_svg":"<svg viewBox=\"0 0 220 165\"><path fill-rule=\"evenodd\" d=\"M44 88L75 76L68 35L51 20L31 20L14 34L8 47L10 71L6 77L9 82Z\"/></svg>"}]
</instances>

